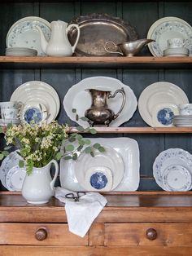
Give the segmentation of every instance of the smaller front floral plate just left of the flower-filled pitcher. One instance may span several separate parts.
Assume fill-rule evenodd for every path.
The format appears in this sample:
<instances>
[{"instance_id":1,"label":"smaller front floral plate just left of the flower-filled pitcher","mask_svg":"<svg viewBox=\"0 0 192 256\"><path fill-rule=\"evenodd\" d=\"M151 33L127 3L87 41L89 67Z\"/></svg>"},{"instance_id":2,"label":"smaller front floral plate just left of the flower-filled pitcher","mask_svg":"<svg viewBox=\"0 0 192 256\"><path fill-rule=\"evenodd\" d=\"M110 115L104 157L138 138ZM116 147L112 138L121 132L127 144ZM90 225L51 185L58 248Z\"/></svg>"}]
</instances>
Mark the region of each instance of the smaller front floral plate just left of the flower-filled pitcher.
<instances>
[{"instance_id":1,"label":"smaller front floral plate just left of the flower-filled pitcher","mask_svg":"<svg viewBox=\"0 0 192 256\"><path fill-rule=\"evenodd\" d=\"M6 185L10 191L21 191L26 176L25 168L13 166L7 173Z\"/></svg>"}]
</instances>

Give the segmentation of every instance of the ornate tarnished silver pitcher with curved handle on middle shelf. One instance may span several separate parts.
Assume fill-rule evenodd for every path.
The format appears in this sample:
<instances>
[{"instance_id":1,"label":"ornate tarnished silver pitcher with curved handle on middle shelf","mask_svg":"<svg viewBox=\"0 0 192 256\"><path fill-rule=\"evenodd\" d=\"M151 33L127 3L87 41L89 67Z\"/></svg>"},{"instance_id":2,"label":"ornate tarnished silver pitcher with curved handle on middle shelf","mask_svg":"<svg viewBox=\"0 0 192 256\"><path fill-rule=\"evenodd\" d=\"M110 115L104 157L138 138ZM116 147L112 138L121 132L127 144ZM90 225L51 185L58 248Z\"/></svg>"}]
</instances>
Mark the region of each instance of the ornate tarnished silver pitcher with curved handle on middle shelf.
<instances>
[{"instance_id":1,"label":"ornate tarnished silver pitcher with curved handle on middle shelf","mask_svg":"<svg viewBox=\"0 0 192 256\"><path fill-rule=\"evenodd\" d=\"M85 111L85 117L89 119L90 126L109 126L111 121L119 117L121 111L124 108L126 95L124 88L116 90L114 94L111 94L111 91L108 90L95 90L95 89L86 89L91 95L92 104L90 108ZM114 113L107 105L107 99L116 97L116 94L120 93L123 96L122 104L118 113Z\"/></svg>"}]
</instances>

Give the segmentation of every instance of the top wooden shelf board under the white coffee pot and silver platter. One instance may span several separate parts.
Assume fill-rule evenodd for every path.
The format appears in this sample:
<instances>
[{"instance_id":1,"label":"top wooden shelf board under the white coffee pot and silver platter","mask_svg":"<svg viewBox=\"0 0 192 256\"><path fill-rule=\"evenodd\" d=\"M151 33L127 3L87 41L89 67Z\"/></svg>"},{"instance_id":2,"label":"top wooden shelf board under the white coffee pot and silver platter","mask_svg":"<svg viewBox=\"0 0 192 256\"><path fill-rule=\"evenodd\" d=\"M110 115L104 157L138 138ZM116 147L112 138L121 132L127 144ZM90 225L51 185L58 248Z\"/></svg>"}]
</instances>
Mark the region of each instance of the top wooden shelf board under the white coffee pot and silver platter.
<instances>
[{"instance_id":1,"label":"top wooden shelf board under the white coffee pot and silver platter","mask_svg":"<svg viewBox=\"0 0 192 256\"><path fill-rule=\"evenodd\" d=\"M192 57L0 56L1 68L189 68Z\"/></svg>"}]
</instances>

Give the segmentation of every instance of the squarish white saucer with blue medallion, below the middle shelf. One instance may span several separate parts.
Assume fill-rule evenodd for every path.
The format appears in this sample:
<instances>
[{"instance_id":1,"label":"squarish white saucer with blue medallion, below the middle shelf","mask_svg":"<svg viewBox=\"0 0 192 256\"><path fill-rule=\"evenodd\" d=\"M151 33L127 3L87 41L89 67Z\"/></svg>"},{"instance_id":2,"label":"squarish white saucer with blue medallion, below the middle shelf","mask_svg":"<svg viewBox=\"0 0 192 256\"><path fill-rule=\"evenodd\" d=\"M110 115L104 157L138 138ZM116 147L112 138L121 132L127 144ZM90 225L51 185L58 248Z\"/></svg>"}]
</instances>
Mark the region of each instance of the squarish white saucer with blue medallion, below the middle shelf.
<instances>
[{"instance_id":1,"label":"squarish white saucer with blue medallion, below the middle shelf","mask_svg":"<svg viewBox=\"0 0 192 256\"><path fill-rule=\"evenodd\" d=\"M85 172L81 185L88 191L110 191L113 177L111 170L105 166L90 167ZM84 183L85 180L85 183Z\"/></svg>"}]
</instances>

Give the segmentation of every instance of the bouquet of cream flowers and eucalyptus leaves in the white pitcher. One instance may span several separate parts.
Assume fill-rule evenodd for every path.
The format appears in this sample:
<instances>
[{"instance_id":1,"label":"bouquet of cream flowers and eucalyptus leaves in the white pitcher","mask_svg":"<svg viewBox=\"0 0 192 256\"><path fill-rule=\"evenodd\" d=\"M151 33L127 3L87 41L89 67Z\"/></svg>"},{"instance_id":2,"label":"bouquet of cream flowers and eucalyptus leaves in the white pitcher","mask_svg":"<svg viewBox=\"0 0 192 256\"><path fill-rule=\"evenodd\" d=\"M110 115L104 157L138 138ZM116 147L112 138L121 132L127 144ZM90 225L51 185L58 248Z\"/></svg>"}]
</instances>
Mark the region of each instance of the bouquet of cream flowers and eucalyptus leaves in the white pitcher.
<instances>
[{"instance_id":1,"label":"bouquet of cream flowers and eucalyptus leaves in the white pitcher","mask_svg":"<svg viewBox=\"0 0 192 256\"><path fill-rule=\"evenodd\" d=\"M76 127L81 132L95 134L94 128ZM46 166L52 159L76 160L80 152L89 153L94 157L94 151L104 152L99 144L91 145L89 139L83 138L78 133L69 133L68 125L59 125L57 121L49 124L21 123L19 126L8 126L5 134L7 147L0 152L0 159L6 157L10 145L20 149L18 152L24 161L20 161L20 167L26 166L27 174L31 174L33 167Z\"/></svg>"}]
</instances>

